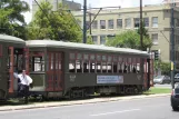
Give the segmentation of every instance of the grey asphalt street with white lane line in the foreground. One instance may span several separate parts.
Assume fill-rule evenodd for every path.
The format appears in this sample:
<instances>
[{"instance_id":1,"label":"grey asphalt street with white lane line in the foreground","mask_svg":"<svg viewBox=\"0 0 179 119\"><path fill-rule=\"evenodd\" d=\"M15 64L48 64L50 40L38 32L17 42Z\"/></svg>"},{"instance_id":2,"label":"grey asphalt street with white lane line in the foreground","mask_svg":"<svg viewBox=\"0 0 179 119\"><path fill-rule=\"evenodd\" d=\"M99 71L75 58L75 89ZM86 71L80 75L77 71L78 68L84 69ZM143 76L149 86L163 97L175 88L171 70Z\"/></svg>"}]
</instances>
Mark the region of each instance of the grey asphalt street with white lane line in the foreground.
<instances>
[{"instance_id":1,"label":"grey asphalt street with white lane line in the foreground","mask_svg":"<svg viewBox=\"0 0 179 119\"><path fill-rule=\"evenodd\" d=\"M1 111L0 119L179 119L170 97Z\"/></svg>"}]
</instances>

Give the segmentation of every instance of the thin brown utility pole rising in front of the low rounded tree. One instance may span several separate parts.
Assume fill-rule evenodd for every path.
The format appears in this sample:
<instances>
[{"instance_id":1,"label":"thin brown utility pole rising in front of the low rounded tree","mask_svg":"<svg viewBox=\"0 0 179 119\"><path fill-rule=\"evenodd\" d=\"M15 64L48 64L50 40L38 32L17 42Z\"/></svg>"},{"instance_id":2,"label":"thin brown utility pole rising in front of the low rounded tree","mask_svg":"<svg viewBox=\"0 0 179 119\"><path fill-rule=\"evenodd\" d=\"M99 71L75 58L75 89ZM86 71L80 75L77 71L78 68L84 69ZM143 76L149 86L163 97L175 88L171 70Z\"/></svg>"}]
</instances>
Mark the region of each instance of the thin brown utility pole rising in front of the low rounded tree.
<instances>
[{"instance_id":1,"label":"thin brown utility pole rising in front of the low rounded tree","mask_svg":"<svg viewBox=\"0 0 179 119\"><path fill-rule=\"evenodd\" d=\"M143 50L142 0L140 0L140 47Z\"/></svg>"}]
</instances>

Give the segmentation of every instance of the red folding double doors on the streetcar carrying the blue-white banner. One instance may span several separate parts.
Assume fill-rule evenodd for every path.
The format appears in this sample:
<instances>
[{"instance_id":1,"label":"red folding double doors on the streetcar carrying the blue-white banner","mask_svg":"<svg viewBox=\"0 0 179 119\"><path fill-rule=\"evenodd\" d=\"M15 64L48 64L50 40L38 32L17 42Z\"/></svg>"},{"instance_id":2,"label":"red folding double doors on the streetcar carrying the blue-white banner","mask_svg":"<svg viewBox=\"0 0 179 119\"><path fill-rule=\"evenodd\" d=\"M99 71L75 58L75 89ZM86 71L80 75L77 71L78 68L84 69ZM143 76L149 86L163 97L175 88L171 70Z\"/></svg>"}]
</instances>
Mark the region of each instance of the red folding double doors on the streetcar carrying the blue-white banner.
<instances>
[{"instance_id":1,"label":"red folding double doors on the streetcar carrying the blue-white banner","mask_svg":"<svg viewBox=\"0 0 179 119\"><path fill-rule=\"evenodd\" d=\"M47 91L62 90L62 52L47 53Z\"/></svg>"}]
</instances>

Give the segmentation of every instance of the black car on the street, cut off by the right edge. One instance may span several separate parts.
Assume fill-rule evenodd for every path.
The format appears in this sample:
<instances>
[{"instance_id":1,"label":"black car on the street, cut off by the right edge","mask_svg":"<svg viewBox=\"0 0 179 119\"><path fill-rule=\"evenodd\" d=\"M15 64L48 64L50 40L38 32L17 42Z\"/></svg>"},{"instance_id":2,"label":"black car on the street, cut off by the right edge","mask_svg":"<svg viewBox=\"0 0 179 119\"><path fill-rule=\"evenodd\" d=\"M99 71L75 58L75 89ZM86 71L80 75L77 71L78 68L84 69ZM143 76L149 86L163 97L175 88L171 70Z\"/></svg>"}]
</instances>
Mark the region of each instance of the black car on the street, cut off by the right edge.
<instances>
[{"instance_id":1,"label":"black car on the street, cut off by the right edge","mask_svg":"<svg viewBox=\"0 0 179 119\"><path fill-rule=\"evenodd\" d=\"M171 107L173 111L179 111L179 85L171 92Z\"/></svg>"}]
</instances>

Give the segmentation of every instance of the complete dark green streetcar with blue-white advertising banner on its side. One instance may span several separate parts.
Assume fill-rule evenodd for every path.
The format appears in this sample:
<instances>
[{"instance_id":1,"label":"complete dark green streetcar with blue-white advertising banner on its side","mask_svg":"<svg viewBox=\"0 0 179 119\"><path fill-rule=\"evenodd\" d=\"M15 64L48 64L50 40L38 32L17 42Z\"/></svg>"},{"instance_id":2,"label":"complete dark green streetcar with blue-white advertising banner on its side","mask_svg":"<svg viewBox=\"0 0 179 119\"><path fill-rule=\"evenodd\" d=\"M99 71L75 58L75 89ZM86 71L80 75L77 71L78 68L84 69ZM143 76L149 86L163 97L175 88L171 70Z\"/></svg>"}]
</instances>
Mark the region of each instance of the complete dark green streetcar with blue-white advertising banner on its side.
<instances>
[{"instance_id":1,"label":"complete dark green streetcar with blue-white advertising banner on its side","mask_svg":"<svg viewBox=\"0 0 179 119\"><path fill-rule=\"evenodd\" d=\"M153 59L146 51L54 40L26 44L34 97L141 93L152 86Z\"/></svg>"}]
</instances>

